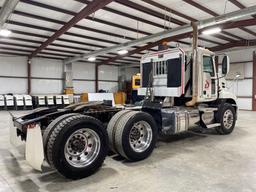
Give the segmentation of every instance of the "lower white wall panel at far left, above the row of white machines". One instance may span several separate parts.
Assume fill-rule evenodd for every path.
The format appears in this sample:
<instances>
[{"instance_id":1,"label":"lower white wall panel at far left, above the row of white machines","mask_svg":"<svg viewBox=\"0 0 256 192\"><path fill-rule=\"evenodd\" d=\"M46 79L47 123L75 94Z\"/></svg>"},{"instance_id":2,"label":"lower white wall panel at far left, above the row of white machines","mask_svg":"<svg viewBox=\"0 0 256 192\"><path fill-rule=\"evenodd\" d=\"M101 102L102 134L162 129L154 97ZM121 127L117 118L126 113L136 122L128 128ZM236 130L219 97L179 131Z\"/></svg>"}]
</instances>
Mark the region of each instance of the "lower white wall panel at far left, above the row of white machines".
<instances>
[{"instance_id":1,"label":"lower white wall panel at far left, above the row of white machines","mask_svg":"<svg viewBox=\"0 0 256 192\"><path fill-rule=\"evenodd\" d=\"M0 78L0 94L24 94L27 93L27 79Z\"/></svg>"}]
</instances>

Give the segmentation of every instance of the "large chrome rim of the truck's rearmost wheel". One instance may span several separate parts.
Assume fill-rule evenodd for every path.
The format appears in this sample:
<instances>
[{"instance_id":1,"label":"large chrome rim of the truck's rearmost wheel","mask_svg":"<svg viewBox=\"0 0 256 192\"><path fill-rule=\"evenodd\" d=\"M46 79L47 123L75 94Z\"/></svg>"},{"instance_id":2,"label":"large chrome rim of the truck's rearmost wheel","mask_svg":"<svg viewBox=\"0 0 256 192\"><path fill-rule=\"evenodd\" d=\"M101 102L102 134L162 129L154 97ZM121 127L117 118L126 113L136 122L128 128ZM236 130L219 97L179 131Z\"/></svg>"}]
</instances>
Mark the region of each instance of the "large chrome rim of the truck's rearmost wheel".
<instances>
[{"instance_id":1,"label":"large chrome rim of the truck's rearmost wheel","mask_svg":"<svg viewBox=\"0 0 256 192\"><path fill-rule=\"evenodd\" d=\"M90 165L99 151L99 135L89 128L79 129L70 135L64 147L66 161L77 168Z\"/></svg>"}]
</instances>

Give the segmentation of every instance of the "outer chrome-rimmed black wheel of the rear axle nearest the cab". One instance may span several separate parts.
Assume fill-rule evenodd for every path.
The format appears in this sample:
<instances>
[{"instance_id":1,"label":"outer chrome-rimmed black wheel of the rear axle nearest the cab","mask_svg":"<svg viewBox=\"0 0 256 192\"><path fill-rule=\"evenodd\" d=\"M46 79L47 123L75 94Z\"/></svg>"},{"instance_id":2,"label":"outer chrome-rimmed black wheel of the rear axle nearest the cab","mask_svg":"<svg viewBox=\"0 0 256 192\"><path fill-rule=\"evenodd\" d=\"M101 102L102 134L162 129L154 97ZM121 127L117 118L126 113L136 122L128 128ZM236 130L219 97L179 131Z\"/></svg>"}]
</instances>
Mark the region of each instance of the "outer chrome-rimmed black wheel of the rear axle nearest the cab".
<instances>
[{"instance_id":1,"label":"outer chrome-rimmed black wheel of the rear axle nearest the cab","mask_svg":"<svg viewBox=\"0 0 256 192\"><path fill-rule=\"evenodd\" d=\"M151 115L131 111L121 116L117 123L115 148L128 160L143 160L154 150L157 134L157 126Z\"/></svg>"}]
</instances>

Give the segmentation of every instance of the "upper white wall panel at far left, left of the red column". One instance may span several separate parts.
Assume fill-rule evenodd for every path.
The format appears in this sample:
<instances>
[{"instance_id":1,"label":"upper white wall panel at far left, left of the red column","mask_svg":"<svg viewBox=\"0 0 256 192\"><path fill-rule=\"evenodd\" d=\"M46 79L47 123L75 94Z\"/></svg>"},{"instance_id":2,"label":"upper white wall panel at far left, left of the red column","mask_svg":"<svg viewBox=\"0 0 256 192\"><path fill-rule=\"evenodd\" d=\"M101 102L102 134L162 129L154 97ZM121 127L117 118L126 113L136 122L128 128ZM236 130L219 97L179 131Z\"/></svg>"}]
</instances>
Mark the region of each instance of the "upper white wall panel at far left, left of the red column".
<instances>
[{"instance_id":1,"label":"upper white wall panel at far left, left of the red column","mask_svg":"<svg viewBox=\"0 0 256 192\"><path fill-rule=\"evenodd\" d=\"M26 57L0 57L0 76L27 76Z\"/></svg>"}]
</instances>

